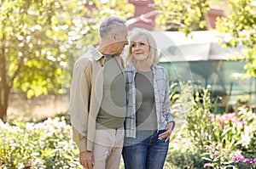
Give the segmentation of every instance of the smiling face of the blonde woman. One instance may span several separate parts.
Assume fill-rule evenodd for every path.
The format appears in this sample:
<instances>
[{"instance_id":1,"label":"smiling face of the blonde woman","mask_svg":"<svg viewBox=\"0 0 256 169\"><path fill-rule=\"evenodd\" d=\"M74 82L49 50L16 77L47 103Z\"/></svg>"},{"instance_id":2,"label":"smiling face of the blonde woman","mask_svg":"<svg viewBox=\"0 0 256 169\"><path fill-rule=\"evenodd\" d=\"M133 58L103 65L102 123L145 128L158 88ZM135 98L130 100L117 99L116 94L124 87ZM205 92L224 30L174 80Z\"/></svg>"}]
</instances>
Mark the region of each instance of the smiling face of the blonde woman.
<instances>
[{"instance_id":1,"label":"smiling face of the blonde woman","mask_svg":"<svg viewBox=\"0 0 256 169\"><path fill-rule=\"evenodd\" d=\"M131 42L131 54L137 61L148 59L149 51L150 47L146 36L141 35Z\"/></svg>"}]
</instances>

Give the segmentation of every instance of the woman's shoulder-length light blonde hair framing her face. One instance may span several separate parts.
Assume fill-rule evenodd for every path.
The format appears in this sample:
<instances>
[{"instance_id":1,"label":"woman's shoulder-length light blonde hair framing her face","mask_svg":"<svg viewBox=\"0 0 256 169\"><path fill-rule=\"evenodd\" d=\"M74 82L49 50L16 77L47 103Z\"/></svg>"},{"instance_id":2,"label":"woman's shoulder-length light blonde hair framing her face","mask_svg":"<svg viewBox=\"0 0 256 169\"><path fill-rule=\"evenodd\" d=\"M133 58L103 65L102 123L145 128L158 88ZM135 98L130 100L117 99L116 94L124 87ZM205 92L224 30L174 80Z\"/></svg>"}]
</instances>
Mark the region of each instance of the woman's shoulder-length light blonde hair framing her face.
<instances>
[{"instance_id":1,"label":"woman's shoulder-length light blonde hair framing her face","mask_svg":"<svg viewBox=\"0 0 256 169\"><path fill-rule=\"evenodd\" d=\"M128 48L126 48L126 58L125 58L125 65L129 65L130 63L134 62L134 57L131 54L131 44L133 41L136 41L138 37L145 36L148 40L149 46L149 56L148 61L151 65L155 65L159 61L159 55L157 52L156 42L154 41L154 37L149 33L149 31L135 28L131 31L131 37Z\"/></svg>"}]
</instances>

